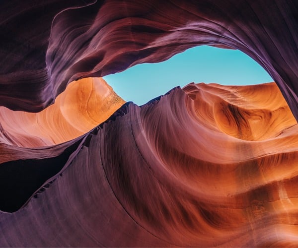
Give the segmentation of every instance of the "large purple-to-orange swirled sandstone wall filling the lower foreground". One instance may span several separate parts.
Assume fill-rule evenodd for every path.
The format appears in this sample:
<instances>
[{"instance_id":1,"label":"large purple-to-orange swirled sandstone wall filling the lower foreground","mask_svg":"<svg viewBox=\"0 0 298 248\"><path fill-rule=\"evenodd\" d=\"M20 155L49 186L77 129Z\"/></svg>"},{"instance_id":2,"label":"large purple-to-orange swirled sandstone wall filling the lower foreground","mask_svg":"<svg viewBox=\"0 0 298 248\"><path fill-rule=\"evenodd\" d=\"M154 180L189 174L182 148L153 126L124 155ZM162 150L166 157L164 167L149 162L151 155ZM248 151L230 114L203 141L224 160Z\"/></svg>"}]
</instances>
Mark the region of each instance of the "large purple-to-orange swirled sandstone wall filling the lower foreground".
<instances>
[{"instance_id":1,"label":"large purple-to-orange swirled sandstone wall filling the lower foreground","mask_svg":"<svg viewBox=\"0 0 298 248\"><path fill-rule=\"evenodd\" d=\"M0 165L3 186L15 182L0 187L14 199L1 203L0 246L298 245L298 124L274 83L191 83L67 143L1 149L16 155ZM7 163L34 171L49 154L64 162L18 202Z\"/></svg>"}]
</instances>

